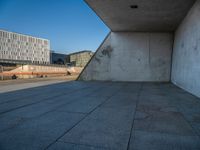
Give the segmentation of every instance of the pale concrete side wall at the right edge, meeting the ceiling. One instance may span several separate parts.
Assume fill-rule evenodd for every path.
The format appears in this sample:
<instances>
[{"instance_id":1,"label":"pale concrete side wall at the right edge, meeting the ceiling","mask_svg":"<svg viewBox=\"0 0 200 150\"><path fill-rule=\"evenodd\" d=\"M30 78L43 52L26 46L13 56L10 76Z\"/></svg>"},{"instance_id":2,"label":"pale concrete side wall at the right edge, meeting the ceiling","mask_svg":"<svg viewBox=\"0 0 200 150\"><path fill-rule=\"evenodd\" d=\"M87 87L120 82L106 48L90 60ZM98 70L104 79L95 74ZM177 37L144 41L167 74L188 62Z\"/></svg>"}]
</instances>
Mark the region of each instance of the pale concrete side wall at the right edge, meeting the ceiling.
<instances>
[{"instance_id":1,"label":"pale concrete side wall at the right edge, meeting the ceiling","mask_svg":"<svg viewBox=\"0 0 200 150\"><path fill-rule=\"evenodd\" d=\"M175 33L172 82L200 97L200 0Z\"/></svg>"}]
</instances>

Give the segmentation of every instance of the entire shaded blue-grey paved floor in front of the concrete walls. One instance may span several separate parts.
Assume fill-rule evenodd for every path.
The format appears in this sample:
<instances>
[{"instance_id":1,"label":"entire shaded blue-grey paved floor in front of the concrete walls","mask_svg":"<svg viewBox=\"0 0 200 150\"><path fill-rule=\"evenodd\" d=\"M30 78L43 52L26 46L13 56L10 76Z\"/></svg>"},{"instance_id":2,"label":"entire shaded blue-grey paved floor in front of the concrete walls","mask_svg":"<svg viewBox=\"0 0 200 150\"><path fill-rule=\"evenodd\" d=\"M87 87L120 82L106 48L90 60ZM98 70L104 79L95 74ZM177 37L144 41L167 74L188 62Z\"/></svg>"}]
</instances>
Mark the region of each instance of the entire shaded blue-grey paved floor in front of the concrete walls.
<instances>
[{"instance_id":1,"label":"entire shaded blue-grey paved floor in front of the concrete walls","mask_svg":"<svg viewBox=\"0 0 200 150\"><path fill-rule=\"evenodd\" d=\"M0 94L0 150L199 150L200 99L171 83L62 82Z\"/></svg>"}]
</instances>

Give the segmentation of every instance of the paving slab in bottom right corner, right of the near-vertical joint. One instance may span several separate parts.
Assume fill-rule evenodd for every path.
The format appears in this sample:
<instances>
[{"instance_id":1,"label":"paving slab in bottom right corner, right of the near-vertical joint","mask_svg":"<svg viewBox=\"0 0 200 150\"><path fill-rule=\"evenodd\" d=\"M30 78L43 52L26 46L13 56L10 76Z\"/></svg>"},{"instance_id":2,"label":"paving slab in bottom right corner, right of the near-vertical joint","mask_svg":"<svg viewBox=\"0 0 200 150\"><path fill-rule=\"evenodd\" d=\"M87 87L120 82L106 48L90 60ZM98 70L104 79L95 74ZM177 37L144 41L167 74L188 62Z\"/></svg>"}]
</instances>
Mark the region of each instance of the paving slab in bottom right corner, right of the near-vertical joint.
<instances>
[{"instance_id":1,"label":"paving slab in bottom right corner, right of the near-vertical joint","mask_svg":"<svg viewBox=\"0 0 200 150\"><path fill-rule=\"evenodd\" d=\"M129 150L199 150L198 136L134 131Z\"/></svg>"}]
</instances>

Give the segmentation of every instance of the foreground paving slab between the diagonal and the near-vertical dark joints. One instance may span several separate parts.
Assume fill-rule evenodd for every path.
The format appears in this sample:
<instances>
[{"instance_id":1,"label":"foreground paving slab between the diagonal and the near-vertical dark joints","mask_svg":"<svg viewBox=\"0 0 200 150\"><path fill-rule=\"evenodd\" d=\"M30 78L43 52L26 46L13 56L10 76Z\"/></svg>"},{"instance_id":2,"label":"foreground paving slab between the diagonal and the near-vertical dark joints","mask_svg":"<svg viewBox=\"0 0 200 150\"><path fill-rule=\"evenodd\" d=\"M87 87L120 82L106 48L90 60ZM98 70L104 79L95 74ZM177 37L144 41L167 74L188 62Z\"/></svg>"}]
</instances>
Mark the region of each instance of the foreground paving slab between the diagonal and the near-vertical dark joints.
<instances>
[{"instance_id":1,"label":"foreground paving slab between the diagonal and the near-vertical dark joints","mask_svg":"<svg viewBox=\"0 0 200 150\"><path fill-rule=\"evenodd\" d=\"M132 110L100 108L59 141L107 149L126 149L131 132Z\"/></svg>"}]
</instances>

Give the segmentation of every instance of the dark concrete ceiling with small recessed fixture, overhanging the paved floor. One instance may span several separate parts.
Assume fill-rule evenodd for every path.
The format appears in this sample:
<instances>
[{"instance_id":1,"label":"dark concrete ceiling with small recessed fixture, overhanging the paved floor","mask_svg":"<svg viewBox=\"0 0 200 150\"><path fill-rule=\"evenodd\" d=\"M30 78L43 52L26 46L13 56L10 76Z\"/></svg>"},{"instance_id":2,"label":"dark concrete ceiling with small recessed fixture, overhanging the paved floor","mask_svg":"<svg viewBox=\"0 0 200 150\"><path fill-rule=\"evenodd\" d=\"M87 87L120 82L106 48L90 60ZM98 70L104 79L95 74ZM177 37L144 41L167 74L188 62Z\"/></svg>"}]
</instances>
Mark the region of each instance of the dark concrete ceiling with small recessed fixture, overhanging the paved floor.
<instances>
[{"instance_id":1,"label":"dark concrete ceiling with small recessed fixture, overhanging the paved floor","mask_svg":"<svg viewBox=\"0 0 200 150\"><path fill-rule=\"evenodd\" d=\"M112 31L157 32L176 30L196 0L85 1Z\"/></svg>"}]
</instances>

